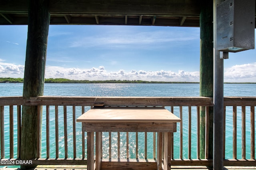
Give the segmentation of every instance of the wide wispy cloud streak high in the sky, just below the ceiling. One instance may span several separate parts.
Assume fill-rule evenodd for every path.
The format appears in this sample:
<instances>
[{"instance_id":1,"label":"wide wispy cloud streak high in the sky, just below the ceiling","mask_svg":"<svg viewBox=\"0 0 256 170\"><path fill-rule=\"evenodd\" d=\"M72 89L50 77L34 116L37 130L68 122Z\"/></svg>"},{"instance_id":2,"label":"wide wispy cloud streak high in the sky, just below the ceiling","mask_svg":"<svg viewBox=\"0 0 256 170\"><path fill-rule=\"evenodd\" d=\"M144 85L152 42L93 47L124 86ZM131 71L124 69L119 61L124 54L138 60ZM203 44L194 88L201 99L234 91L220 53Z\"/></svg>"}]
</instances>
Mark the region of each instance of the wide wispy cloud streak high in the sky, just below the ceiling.
<instances>
[{"instance_id":1,"label":"wide wispy cloud streak high in the sky, just below the ceiling","mask_svg":"<svg viewBox=\"0 0 256 170\"><path fill-rule=\"evenodd\" d=\"M94 46L115 46L127 47L127 45L149 45L156 43L171 43L171 42L187 42L190 40L198 39L199 32L191 34L186 31L148 31L148 32L135 32L132 30L119 30L108 31L99 36L92 37L79 37L74 40L70 47L94 47ZM174 45L174 44L172 44ZM152 48L152 47L151 47Z\"/></svg>"}]
</instances>

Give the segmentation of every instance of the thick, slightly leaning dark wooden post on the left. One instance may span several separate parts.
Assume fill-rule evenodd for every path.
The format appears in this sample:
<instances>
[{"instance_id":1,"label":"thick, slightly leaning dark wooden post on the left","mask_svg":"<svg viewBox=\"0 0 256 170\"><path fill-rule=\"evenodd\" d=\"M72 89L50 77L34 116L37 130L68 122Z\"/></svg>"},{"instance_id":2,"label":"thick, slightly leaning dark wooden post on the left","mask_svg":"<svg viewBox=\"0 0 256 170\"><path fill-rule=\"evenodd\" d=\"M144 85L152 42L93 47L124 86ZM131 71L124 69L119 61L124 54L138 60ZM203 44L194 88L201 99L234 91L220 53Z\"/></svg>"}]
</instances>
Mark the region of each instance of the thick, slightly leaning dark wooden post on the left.
<instances>
[{"instance_id":1,"label":"thick, slightly leaning dark wooden post on the left","mask_svg":"<svg viewBox=\"0 0 256 170\"><path fill-rule=\"evenodd\" d=\"M49 1L30 0L28 9L28 39L24 72L23 97L42 96L44 91L44 72L46 49L50 24ZM42 107L22 106L22 129L20 158L23 160L40 156L41 119L38 113ZM42 115L39 115L42 116ZM39 136L38 136L39 134ZM39 141L39 143L37 142ZM38 150L39 148L39 150ZM39 153L38 153L39 151ZM32 166L21 166L28 169Z\"/></svg>"}]
</instances>

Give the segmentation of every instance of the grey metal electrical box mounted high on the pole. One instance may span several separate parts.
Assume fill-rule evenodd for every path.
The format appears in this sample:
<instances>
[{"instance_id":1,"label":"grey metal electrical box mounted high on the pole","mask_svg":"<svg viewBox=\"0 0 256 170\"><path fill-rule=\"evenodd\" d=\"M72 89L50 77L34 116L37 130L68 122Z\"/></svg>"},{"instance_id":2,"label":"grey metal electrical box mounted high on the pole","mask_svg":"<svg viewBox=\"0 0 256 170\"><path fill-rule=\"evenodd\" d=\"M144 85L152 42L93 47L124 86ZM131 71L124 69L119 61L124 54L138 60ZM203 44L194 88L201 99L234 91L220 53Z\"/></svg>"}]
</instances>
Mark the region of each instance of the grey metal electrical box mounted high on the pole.
<instances>
[{"instance_id":1,"label":"grey metal electrical box mounted high on the pole","mask_svg":"<svg viewBox=\"0 0 256 170\"><path fill-rule=\"evenodd\" d=\"M217 50L254 49L255 0L225 0L216 7Z\"/></svg>"}]
</instances>

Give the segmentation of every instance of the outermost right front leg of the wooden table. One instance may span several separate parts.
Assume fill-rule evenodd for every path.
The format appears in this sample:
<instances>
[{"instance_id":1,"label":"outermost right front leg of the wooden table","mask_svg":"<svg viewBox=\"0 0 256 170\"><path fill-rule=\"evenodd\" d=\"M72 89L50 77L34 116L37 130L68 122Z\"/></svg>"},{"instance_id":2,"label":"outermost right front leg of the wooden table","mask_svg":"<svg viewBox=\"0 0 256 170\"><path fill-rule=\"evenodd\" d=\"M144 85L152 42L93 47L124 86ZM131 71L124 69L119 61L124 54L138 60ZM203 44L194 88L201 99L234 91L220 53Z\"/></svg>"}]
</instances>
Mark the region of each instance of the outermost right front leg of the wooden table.
<instances>
[{"instance_id":1,"label":"outermost right front leg of the wooden table","mask_svg":"<svg viewBox=\"0 0 256 170\"><path fill-rule=\"evenodd\" d=\"M171 169L171 133L164 132L164 170Z\"/></svg>"}]
</instances>

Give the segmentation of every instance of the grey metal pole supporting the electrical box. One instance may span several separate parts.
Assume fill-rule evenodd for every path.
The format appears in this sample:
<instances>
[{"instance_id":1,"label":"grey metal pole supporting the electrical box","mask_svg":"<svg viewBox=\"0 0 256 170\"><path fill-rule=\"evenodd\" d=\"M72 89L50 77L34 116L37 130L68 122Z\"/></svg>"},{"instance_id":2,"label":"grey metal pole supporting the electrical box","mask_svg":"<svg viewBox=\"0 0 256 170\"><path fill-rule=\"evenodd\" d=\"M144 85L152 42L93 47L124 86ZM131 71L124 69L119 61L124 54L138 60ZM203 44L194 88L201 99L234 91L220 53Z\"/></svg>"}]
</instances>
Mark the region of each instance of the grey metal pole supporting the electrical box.
<instances>
[{"instance_id":1,"label":"grey metal pole supporting the electrical box","mask_svg":"<svg viewBox=\"0 0 256 170\"><path fill-rule=\"evenodd\" d=\"M220 52L216 47L216 6L223 0L213 1L213 41L214 41L214 86L213 86L213 127L214 127L214 151L213 151L213 169L223 170L223 127L224 127L224 64L223 59L220 59Z\"/></svg>"}]
</instances>

